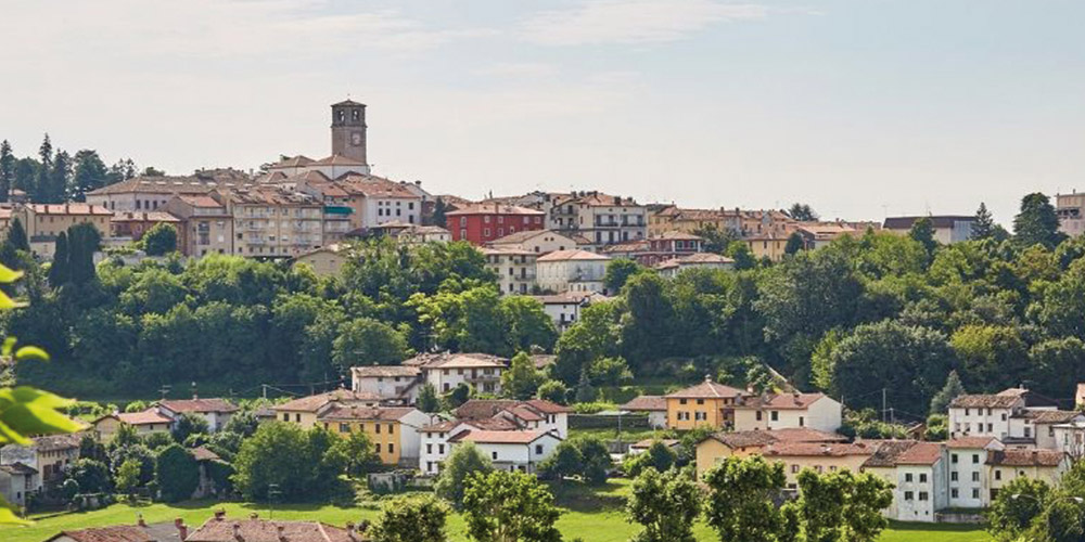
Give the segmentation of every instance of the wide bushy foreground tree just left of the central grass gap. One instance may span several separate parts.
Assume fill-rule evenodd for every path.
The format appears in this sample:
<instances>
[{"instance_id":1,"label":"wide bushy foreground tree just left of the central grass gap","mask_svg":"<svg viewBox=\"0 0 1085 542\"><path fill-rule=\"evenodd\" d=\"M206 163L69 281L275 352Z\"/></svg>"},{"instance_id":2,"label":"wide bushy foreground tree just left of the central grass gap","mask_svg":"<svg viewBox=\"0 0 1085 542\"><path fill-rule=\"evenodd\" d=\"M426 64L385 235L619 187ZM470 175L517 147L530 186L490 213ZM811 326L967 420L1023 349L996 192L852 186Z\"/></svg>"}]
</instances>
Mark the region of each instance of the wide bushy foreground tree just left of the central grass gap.
<instances>
[{"instance_id":1,"label":"wide bushy foreground tree just left of the central grass gap","mask_svg":"<svg viewBox=\"0 0 1085 542\"><path fill-rule=\"evenodd\" d=\"M560 542L561 511L535 476L475 473L463 489L463 518L477 542Z\"/></svg>"}]
</instances>

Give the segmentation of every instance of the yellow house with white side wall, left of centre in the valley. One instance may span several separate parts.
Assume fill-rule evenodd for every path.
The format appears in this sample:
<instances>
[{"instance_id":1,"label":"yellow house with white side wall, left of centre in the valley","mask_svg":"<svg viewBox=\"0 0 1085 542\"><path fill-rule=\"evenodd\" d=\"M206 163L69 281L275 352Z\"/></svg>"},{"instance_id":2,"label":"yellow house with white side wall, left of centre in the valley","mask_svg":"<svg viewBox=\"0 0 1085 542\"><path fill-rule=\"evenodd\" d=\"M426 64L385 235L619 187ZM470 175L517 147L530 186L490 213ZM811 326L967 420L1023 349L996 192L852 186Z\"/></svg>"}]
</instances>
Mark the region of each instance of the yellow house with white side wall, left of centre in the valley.
<instances>
[{"instance_id":1,"label":"yellow house with white side wall, left of centre in the valley","mask_svg":"<svg viewBox=\"0 0 1085 542\"><path fill-rule=\"evenodd\" d=\"M412 406L366 406L332 404L317 416L317 423L337 435L365 433L381 463L417 467L419 429L429 426L430 416Z\"/></svg>"}]
</instances>

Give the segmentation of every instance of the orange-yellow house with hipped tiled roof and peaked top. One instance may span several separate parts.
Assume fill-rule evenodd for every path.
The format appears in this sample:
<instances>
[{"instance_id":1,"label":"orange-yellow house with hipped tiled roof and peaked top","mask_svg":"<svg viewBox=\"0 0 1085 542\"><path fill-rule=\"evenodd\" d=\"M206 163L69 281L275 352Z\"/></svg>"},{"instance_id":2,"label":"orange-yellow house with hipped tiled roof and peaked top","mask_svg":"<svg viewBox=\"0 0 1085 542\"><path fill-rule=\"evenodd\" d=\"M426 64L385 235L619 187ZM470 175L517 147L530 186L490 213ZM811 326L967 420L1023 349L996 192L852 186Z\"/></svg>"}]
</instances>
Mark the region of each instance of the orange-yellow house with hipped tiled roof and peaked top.
<instances>
[{"instance_id":1,"label":"orange-yellow house with hipped tiled roof and peaked top","mask_svg":"<svg viewBox=\"0 0 1085 542\"><path fill-rule=\"evenodd\" d=\"M693 429L701 426L718 429L735 427L735 405L749 396L741 389L712 382L704 382L665 396L667 400L667 427Z\"/></svg>"}]
</instances>

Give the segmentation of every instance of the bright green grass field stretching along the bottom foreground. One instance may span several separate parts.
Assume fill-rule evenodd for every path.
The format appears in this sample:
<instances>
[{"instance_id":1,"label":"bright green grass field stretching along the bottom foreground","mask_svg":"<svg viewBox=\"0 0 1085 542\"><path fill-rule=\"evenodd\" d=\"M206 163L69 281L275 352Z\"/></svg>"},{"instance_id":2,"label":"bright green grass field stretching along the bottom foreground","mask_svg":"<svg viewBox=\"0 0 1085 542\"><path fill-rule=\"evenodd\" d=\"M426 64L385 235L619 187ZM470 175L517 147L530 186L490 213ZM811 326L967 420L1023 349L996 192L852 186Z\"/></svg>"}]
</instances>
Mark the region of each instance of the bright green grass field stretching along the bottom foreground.
<instances>
[{"instance_id":1,"label":"bright green grass field stretching along the bottom foreground","mask_svg":"<svg viewBox=\"0 0 1085 542\"><path fill-rule=\"evenodd\" d=\"M584 542L628 541L639 530L638 526L626 522L622 512L622 504L628 490L629 485L626 480L608 483L599 491L559 488L556 491L556 496L565 513L558 526L565 539L579 538ZM41 542L62 530L135 524L138 514L142 514L148 522L173 521L175 518L182 518L190 528L195 528L218 508L225 509L228 517L235 518L247 517L254 512L264 518L270 515L266 505L212 501L192 501L175 505L153 504L142 507L116 504L89 513L37 518L35 525L30 527L0 527L0 540L4 542ZM277 519L320 520L342 526L347 521L373 520L378 514L376 509L368 507L301 504L277 506L273 517ZM464 530L461 517L452 516L449 518L450 542L465 542ZM713 532L704 525L698 526L697 535L698 540L704 542L716 540ZM985 532L975 528L919 524L894 524L881 538L882 542L988 542L990 540Z\"/></svg>"}]
</instances>

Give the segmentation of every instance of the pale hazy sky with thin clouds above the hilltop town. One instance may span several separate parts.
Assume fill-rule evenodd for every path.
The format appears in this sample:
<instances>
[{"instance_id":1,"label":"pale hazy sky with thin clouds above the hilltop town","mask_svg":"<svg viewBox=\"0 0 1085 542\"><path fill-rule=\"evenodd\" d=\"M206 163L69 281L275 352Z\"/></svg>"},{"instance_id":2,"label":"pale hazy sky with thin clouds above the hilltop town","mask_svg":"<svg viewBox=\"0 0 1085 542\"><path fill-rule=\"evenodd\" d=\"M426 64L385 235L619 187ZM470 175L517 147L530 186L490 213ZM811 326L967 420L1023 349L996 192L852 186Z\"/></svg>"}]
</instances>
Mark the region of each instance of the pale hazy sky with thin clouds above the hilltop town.
<instances>
[{"instance_id":1,"label":"pale hazy sky with thin clouds above the hilltop town","mask_svg":"<svg viewBox=\"0 0 1085 542\"><path fill-rule=\"evenodd\" d=\"M753 0L756 1L756 0ZM1085 190L1077 0L0 0L0 139L171 173L330 153L467 197L826 218Z\"/></svg>"}]
</instances>

